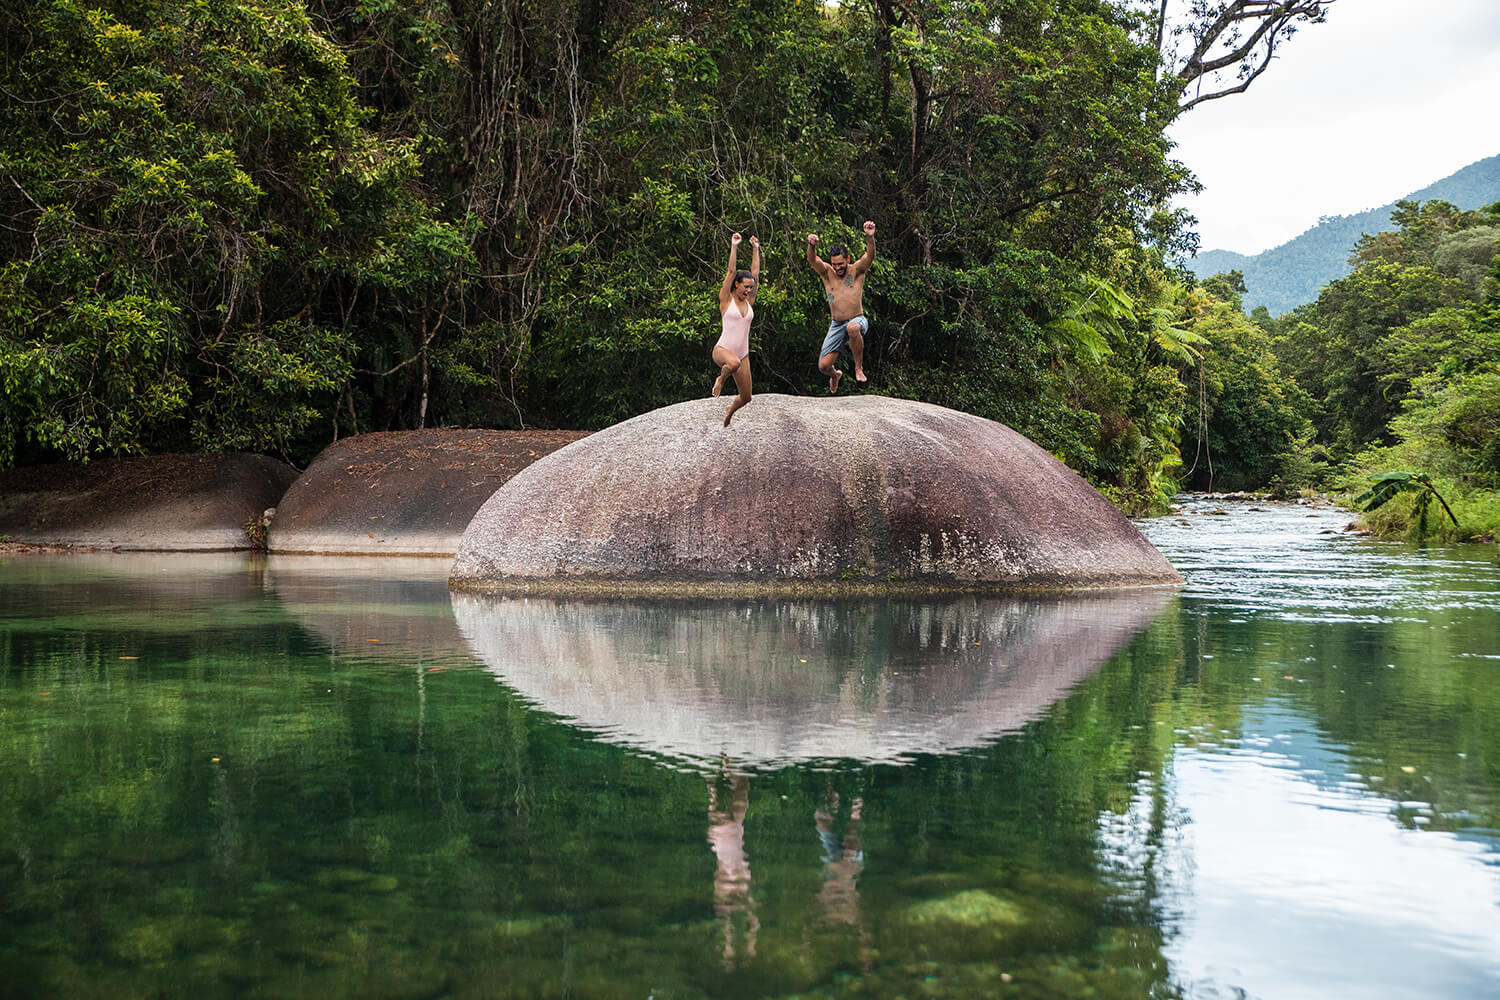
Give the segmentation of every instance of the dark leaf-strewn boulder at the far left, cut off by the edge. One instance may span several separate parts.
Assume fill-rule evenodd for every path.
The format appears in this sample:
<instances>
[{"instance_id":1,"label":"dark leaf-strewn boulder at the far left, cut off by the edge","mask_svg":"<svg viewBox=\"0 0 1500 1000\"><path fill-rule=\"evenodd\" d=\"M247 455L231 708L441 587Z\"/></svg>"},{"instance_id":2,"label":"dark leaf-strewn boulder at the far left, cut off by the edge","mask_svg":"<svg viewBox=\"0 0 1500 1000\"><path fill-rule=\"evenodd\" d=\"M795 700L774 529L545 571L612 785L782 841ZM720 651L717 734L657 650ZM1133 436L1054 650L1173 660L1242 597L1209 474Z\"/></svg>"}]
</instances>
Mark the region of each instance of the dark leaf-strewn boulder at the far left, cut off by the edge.
<instances>
[{"instance_id":1,"label":"dark leaf-strewn boulder at the far left, cut off by the edge","mask_svg":"<svg viewBox=\"0 0 1500 1000\"><path fill-rule=\"evenodd\" d=\"M250 549L297 471L260 454L154 454L0 472L8 541L202 552Z\"/></svg>"}]
</instances>

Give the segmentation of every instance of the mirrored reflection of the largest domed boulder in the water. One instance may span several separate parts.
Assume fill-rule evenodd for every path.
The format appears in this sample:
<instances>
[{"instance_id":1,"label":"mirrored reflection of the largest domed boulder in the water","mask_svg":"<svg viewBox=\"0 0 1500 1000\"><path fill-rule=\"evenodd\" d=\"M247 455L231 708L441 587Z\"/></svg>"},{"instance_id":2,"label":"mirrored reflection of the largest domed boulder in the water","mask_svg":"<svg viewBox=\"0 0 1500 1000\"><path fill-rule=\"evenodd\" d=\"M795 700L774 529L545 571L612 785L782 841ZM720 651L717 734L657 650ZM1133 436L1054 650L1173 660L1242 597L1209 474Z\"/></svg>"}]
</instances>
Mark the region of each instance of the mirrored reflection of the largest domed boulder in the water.
<instances>
[{"instance_id":1,"label":"mirrored reflection of the largest domed boulder in the water","mask_svg":"<svg viewBox=\"0 0 1500 1000\"><path fill-rule=\"evenodd\" d=\"M1036 718L1172 591L933 601L453 594L472 652L543 711L693 766L897 763Z\"/></svg>"}]
</instances>

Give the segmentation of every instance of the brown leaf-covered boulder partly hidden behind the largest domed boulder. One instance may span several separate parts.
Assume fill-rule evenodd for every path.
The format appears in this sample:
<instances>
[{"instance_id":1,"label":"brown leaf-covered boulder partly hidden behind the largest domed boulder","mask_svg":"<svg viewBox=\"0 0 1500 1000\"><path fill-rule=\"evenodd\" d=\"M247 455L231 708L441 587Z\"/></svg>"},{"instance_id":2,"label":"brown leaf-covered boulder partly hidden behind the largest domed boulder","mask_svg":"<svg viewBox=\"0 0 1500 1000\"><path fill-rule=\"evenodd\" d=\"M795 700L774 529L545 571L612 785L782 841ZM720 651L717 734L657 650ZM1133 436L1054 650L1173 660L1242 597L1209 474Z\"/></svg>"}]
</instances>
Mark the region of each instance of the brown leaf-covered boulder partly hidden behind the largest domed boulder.
<instances>
[{"instance_id":1,"label":"brown leaf-covered boulder partly hidden behind the largest domed boulder","mask_svg":"<svg viewBox=\"0 0 1500 1000\"><path fill-rule=\"evenodd\" d=\"M474 511L584 430L382 430L324 448L276 508L282 553L452 556Z\"/></svg>"}]
</instances>

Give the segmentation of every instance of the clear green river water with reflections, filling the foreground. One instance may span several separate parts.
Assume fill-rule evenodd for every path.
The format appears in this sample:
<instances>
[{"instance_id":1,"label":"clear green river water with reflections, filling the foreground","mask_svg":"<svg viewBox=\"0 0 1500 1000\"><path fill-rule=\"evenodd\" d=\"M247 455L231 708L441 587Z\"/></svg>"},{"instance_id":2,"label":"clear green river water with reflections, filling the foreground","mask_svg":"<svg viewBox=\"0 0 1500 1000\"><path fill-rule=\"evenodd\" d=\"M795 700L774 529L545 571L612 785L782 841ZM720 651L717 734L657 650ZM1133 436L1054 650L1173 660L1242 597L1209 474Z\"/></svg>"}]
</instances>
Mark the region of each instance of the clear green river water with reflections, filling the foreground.
<instances>
[{"instance_id":1,"label":"clear green river water with reflections, filling the foreground","mask_svg":"<svg viewBox=\"0 0 1500 1000\"><path fill-rule=\"evenodd\" d=\"M3 561L0 996L1500 996L1494 549L1344 520L1046 601Z\"/></svg>"}]
</instances>

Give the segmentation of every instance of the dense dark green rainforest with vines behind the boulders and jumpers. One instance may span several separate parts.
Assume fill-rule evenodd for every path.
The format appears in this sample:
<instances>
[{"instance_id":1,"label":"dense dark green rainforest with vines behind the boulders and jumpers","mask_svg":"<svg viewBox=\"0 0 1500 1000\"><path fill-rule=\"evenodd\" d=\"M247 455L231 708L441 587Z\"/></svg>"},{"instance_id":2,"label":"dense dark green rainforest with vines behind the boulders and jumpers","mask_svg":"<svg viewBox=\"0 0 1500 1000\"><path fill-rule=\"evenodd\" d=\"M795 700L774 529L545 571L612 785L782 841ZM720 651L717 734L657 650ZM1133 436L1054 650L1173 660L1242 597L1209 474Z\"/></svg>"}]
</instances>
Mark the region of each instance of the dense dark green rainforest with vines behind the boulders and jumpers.
<instances>
[{"instance_id":1,"label":"dense dark green rainforest with vines behind the boulders and jumpers","mask_svg":"<svg viewBox=\"0 0 1500 1000\"><path fill-rule=\"evenodd\" d=\"M804 237L874 219L873 391L1130 505L1208 400L1251 483L1310 403L1257 402L1264 336L1172 268L1164 129L1324 7L0 0L0 465L700 396L734 231L756 387L826 391Z\"/></svg>"}]
</instances>

